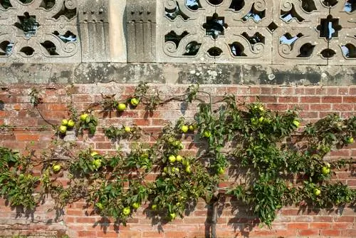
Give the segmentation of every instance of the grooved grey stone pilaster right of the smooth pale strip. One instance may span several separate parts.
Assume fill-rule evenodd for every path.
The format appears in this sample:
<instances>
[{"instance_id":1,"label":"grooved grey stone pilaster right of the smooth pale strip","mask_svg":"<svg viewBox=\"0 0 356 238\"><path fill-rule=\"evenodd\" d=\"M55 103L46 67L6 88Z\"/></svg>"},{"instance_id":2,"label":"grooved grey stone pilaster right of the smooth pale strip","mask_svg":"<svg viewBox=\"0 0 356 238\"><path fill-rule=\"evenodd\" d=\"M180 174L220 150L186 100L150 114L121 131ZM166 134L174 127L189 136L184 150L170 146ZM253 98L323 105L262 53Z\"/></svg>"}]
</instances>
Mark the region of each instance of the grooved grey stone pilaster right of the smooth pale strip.
<instances>
[{"instance_id":1,"label":"grooved grey stone pilaster right of the smooth pale strip","mask_svg":"<svg viewBox=\"0 0 356 238\"><path fill-rule=\"evenodd\" d=\"M156 61L156 0L127 0L127 62Z\"/></svg>"}]
</instances>

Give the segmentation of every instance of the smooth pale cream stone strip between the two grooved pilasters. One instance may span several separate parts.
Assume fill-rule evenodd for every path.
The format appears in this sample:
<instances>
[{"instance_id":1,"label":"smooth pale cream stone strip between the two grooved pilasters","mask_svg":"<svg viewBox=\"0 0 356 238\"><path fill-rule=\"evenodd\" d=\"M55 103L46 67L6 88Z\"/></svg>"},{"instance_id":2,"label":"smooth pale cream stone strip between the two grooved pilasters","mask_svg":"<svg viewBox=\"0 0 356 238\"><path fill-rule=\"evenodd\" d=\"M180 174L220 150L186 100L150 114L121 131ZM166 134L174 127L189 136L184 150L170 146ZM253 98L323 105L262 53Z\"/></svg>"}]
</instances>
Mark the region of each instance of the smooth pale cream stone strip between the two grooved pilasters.
<instances>
[{"instance_id":1,"label":"smooth pale cream stone strip between the two grooved pilasters","mask_svg":"<svg viewBox=\"0 0 356 238\"><path fill-rule=\"evenodd\" d=\"M127 62L125 6L126 0L109 0L109 38L112 62Z\"/></svg>"}]
</instances>

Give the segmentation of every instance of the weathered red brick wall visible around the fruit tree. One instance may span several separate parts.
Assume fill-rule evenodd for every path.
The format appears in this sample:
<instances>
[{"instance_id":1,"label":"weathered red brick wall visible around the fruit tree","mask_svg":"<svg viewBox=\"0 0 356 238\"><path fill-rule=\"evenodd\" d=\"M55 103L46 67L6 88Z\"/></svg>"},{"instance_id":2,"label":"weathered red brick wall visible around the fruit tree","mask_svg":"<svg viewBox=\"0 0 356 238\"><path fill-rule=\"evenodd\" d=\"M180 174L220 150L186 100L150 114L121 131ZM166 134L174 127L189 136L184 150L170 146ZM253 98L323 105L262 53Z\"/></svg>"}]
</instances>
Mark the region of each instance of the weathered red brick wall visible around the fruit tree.
<instances>
[{"instance_id":1,"label":"weathered red brick wall visible around the fruit tree","mask_svg":"<svg viewBox=\"0 0 356 238\"><path fill-rule=\"evenodd\" d=\"M41 150L47 148L54 136L54 131L43 118L33 109L28 93L31 85L11 85L0 88L0 100L4 104L0 107L0 125L11 125L14 129L0 129L0 145L24 150L26 147ZM62 118L68 116L67 103L73 101L78 110L84 110L90 103L101 99L101 94L115 94L117 98L127 98L132 95L135 86L128 84L83 84L74 86L36 85L43 103L38 109L50 123L59 124ZM183 85L153 85L162 91L162 97L183 93L187 86ZM343 118L355 115L356 87L355 86L201 86L216 98L224 93L233 93L239 100L253 102L256 96L266 103L271 110L288 110L295 106L303 109L301 116L304 123L315 121L328 113L338 113ZM1 101L0 101L1 102ZM194 115L194 104L184 110L186 118ZM179 102L170 102L159 107L155 113L145 117L145 110L139 105L135 110L127 110L117 116L112 113L103 118L100 110L95 111L101 126L108 125L139 125L144 130L158 132L167 120L177 120L182 114ZM46 127L45 127L46 126ZM154 142L154 138L145 136L142 141ZM189 140L185 142L189 144ZM84 135L78 138L78 145L90 146L100 152L115 150L116 143L105 138L102 130L98 130L93 138ZM187 147L186 147L187 148ZM356 143L337 152L331 152L330 158L355 157ZM352 170L340 170L336 177L350 186L356 187L355 174ZM66 181L63 181L66 182ZM110 220L99 216L89 215L93 207L86 207L85 202L75 202L65 209L65 213L55 220L56 211L48 211L51 200L38 207L36 212L28 216L20 216L21 212L6 207L0 200L0 237L13 234L27 234L33 237L205 237L207 209L203 200L199 201L196 209L189 217L175 219L174 222L164 224L162 232L152 224L143 213L145 206L127 223L127 227L116 227ZM258 227L258 219L244 207L231 212L234 201L227 200L221 216L218 219L218 237L356 237L354 208L333 210L300 210L299 207L285 207L278 212L278 218L273 228Z\"/></svg>"}]
</instances>

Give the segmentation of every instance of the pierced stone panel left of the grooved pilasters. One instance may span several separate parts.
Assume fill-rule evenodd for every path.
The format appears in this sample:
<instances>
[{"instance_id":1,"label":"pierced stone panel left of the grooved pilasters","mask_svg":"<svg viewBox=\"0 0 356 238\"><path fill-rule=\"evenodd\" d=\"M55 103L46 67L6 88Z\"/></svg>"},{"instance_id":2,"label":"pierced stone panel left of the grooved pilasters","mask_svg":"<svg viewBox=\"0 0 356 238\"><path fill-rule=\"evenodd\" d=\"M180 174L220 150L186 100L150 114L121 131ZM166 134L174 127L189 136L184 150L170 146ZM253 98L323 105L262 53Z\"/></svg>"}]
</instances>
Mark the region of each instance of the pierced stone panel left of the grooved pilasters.
<instances>
[{"instance_id":1,"label":"pierced stone panel left of the grooved pilasters","mask_svg":"<svg viewBox=\"0 0 356 238\"><path fill-rule=\"evenodd\" d=\"M1 1L0 62L80 62L75 0Z\"/></svg>"}]
</instances>

